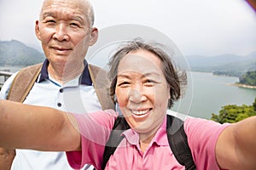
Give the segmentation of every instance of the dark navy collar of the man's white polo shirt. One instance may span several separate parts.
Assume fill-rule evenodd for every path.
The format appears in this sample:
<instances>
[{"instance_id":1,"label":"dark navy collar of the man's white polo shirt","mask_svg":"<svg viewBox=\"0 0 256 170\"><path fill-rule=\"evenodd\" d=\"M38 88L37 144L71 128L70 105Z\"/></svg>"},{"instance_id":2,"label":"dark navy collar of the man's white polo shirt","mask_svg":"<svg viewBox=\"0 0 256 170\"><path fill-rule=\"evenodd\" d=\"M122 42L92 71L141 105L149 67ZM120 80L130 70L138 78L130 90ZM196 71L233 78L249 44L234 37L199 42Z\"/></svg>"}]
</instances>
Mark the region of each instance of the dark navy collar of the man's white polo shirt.
<instances>
[{"instance_id":1,"label":"dark navy collar of the man's white polo shirt","mask_svg":"<svg viewBox=\"0 0 256 170\"><path fill-rule=\"evenodd\" d=\"M42 82L45 79L49 79L49 73L48 73L48 70L47 70L48 65L49 65L49 60L45 59L43 65L42 65L41 74L38 77L38 82ZM84 65L85 65L84 66L84 71L82 73L82 76L80 77L80 81L81 81L80 84L91 86L92 81L91 81L91 78L90 78L90 72L89 72L89 68L88 68L89 65L88 65L88 63L85 59L84 59Z\"/></svg>"}]
</instances>

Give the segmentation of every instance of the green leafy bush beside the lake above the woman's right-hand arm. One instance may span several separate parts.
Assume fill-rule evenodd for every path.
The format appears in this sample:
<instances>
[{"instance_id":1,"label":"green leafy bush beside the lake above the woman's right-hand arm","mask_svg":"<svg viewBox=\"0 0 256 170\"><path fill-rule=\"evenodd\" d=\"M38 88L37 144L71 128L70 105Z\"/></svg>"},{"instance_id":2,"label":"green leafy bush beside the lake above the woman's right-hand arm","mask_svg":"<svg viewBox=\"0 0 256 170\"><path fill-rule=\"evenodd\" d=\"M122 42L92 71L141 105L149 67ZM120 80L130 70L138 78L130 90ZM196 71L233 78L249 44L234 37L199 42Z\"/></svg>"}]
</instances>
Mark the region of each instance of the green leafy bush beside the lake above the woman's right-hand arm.
<instances>
[{"instance_id":1,"label":"green leafy bush beside the lake above the woman's right-hand arm","mask_svg":"<svg viewBox=\"0 0 256 170\"><path fill-rule=\"evenodd\" d=\"M253 105L224 105L219 114L212 113L211 120L215 122L239 122L249 116L256 116L256 98Z\"/></svg>"}]
</instances>

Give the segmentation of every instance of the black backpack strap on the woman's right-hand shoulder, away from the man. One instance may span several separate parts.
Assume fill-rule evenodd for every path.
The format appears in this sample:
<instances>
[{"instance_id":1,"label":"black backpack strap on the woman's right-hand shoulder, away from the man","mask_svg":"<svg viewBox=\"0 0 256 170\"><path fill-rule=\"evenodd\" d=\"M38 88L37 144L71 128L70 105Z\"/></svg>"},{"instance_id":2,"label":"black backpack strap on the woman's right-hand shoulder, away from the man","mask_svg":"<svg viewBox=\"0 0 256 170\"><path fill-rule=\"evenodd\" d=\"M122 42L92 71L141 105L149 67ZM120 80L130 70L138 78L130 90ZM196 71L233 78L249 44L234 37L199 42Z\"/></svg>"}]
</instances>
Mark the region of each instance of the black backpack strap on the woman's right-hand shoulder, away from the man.
<instances>
[{"instance_id":1,"label":"black backpack strap on the woman's right-hand shoulder, away from the man","mask_svg":"<svg viewBox=\"0 0 256 170\"><path fill-rule=\"evenodd\" d=\"M177 161L185 166L186 170L196 169L183 121L175 116L167 115L166 128L168 142Z\"/></svg>"}]
</instances>

